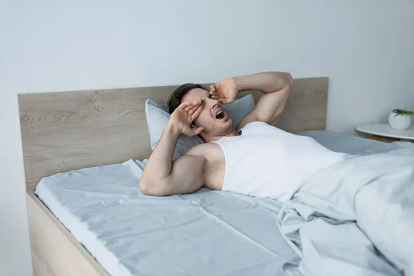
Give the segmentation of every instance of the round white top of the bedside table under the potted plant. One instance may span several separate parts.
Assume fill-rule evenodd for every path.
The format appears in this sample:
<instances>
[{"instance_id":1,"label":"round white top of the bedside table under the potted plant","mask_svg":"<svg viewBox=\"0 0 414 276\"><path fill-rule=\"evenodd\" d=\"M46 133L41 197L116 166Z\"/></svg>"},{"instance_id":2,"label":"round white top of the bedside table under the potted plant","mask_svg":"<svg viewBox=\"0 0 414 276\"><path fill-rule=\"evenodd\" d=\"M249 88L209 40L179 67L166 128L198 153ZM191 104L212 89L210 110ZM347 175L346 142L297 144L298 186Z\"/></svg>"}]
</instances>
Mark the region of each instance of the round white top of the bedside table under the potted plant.
<instances>
[{"instance_id":1,"label":"round white top of the bedside table under the potted plant","mask_svg":"<svg viewBox=\"0 0 414 276\"><path fill-rule=\"evenodd\" d=\"M410 126L406 130L395 130L388 124L365 124L357 126L357 130L371 134L371 139L376 141L381 141L382 139L391 141L407 139L414 141L414 126Z\"/></svg>"}]
</instances>

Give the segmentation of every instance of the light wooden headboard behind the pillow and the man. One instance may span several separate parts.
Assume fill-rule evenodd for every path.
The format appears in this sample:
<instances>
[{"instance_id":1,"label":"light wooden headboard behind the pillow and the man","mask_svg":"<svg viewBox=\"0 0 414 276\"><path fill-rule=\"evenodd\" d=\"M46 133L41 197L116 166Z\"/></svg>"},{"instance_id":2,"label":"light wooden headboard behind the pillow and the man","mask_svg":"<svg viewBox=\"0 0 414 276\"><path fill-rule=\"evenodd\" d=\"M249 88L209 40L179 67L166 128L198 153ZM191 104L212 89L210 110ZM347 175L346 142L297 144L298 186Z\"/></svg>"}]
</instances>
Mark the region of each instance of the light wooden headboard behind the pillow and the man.
<instances>
[{"instance_id":1,"label":"light wooden headboard behind the pillow and the man","mask_svg":"<svg viewBox=\"0 0 414 276\"><path fill-rule=\"evenodd\" d=\"M165 104L175 88L18 95L27 192L34 191L42 177L57 172L147 158L151 149L146 99ZM257 101L260 92L253 95ZM290 132L324 130L327 95L326 77L294 79L276 126Z\"/></svg>"}]
</instances>

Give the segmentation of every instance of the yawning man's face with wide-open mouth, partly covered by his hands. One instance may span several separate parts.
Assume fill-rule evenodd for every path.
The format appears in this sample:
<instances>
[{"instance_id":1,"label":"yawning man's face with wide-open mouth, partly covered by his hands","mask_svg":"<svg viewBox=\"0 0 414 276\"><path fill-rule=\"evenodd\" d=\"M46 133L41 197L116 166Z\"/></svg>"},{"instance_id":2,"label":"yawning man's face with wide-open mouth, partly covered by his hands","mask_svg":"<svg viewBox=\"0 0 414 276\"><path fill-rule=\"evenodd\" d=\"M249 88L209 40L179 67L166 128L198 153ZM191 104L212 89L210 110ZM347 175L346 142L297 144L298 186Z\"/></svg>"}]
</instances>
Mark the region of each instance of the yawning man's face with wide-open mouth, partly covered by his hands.
<instances>
[{"instance_id":1,"label":"yawning man's face with wide-open mouth, partly covered by his hands","mask_svg":"<svg viewBox=\"0 0 414 276\"><path fill-rule=\"evenodd\" d=\"M190 90L182 99L182 101L198 101L202 100L203 110L193 124L202 126L204 130L201 136L208 141L208 137L219 137L228 135L233 131L233 121L227 115L223 106L216 99L210 98L210 93L201 88Z\"/></svg>"}]
</instances>

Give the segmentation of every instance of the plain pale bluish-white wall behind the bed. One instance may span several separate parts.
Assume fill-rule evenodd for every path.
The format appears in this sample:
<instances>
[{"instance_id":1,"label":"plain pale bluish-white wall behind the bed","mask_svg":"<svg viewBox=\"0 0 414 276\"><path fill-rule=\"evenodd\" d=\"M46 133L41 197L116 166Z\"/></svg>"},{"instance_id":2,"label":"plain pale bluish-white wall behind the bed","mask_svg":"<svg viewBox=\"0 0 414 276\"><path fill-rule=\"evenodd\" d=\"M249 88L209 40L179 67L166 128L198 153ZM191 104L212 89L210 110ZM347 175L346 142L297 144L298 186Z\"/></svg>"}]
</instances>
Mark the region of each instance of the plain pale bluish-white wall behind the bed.
<instances>
[{"instance_id":1,"label":"plain pale bluish-white wall behind the bed","mask_svg":"<svg viewBox=\"0 0 414 276\"><path fill-rule=\"evenodd\" d=\"M413 1L61 2L0 2L0 275L31 273L17 93L286 70L330 77L331 130L414 108Z\"/></svg>"}]
</instances>

